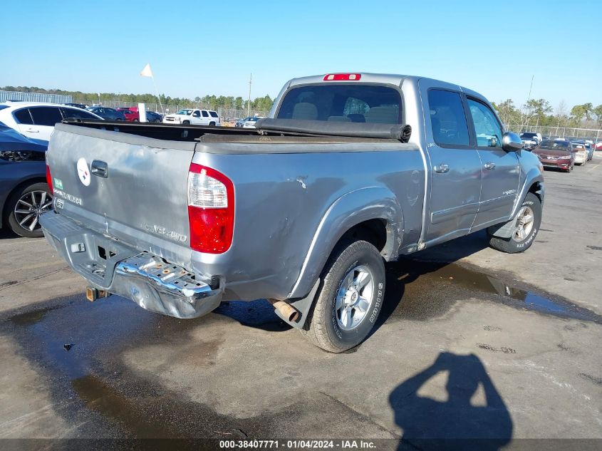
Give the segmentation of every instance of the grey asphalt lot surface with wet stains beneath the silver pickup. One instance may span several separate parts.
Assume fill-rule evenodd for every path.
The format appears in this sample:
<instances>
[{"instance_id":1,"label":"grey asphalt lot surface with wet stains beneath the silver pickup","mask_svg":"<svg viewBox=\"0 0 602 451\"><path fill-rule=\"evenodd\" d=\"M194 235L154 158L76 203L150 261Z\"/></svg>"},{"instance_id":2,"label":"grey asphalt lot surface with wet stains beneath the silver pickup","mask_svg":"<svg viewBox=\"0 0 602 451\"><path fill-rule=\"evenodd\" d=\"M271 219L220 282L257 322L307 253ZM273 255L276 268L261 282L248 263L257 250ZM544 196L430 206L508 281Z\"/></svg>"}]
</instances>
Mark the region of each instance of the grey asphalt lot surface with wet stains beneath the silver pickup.
<instances>
[{"instance_id":1,"label":"grey asphalt lot surface with wet stains beneath the silver pickup","mask_svg":"<svg viewBox=\"0 0 602 451\"><path fill-rule=\"evenodd\" d=\"M4 232L0 439L28 440L0 447L313 438L600 449L601 152L545 178L531 249L501 254L477 233L388 264L378 327L339 355L311 346L266 301L194 320L118 296L90 304L85 281L43 239Z\"/></svg>"}]
</instances>

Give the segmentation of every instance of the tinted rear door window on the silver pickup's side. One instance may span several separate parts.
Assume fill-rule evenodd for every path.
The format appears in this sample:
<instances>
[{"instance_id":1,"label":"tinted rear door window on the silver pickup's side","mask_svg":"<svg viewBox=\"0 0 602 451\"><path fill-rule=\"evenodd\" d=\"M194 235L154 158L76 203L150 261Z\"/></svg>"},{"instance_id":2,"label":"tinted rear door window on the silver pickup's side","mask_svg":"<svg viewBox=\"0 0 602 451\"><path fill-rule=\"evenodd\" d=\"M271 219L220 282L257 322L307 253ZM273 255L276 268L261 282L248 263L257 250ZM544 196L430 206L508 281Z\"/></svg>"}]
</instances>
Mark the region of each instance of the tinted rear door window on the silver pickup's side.
<instances>
[{"instance_id":1,"label":"tinted rear door window on the silver pickup's side","mask_svg":"<svg viewBox=\"0 0 602 451\"><path fill-rule=\"evenodd\" d=\"M432 138L438 145L470 144L460 93L431 89L428 92Z\"/></svg>"}]
</instances>

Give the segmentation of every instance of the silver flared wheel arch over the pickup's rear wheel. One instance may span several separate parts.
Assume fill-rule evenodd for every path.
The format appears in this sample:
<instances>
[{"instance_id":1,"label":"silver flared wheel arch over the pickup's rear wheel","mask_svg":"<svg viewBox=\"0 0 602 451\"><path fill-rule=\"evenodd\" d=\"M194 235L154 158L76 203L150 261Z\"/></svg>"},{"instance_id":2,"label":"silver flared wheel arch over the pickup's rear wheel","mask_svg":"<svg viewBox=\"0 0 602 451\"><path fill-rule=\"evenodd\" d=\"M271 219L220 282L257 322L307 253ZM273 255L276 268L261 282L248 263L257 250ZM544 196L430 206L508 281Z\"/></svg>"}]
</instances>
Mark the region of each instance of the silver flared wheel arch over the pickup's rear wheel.
<instances>
[{"instance_id":1,"label":"silver flared wheel arch over the pickup's rear wheel","mask_svg":"<svg viewBox=\"0 0 602 451\"><path fill-rule=\"evenodd\" d=\"M386 260L395 259L402 241L403 214L393 192L385 187L366 187L348 192L328 207L318 224L289 299L306 296L338 240L352 227L370 219L385 221L387 242L381 254Z\"/></svg>"}]
</instances>

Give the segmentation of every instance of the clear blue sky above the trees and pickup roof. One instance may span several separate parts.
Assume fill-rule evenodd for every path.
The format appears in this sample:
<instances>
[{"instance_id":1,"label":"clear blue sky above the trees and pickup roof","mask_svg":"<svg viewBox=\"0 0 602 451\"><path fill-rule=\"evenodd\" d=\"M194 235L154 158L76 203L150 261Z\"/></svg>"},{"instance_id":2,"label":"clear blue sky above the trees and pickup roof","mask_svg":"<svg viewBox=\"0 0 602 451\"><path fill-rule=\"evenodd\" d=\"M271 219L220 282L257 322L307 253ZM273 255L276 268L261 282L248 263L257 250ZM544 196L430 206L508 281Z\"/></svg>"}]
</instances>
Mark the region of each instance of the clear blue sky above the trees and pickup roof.
<instances>
[{"instance_id":1,"label":"clear blue sky above the trees and pickup roof","mask_svg":"<svg viewBox=\"0 0 602 451\"><path fill-rule=\"evenodd\" d=\"M439 78L493 101L602 103L602 1L3 2L0 85L276 95L289 78Z\"/></svg>"}]
</instances>

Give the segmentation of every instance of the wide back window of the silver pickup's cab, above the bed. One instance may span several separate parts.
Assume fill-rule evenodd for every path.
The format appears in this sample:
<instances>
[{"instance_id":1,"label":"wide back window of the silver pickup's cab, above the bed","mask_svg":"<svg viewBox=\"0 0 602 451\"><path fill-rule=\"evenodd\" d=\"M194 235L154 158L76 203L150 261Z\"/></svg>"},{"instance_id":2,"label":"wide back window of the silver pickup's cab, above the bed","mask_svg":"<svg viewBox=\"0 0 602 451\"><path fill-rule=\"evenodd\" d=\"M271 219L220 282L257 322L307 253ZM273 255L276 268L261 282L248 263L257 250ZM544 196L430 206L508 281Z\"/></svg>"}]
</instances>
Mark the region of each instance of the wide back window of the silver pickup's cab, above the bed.
<instances>
[{"instance_id":1,"label":"wide back window of the silver pickup's cab, above the bed","mask_svg":"<svg viewBox=\"0 0 602 451\"><path fill-rule=\"evenodd\" d=\"M401 95L388 86L320 84L291 89L276 118L399 124Z\"/></svg>"}]
</instances>

